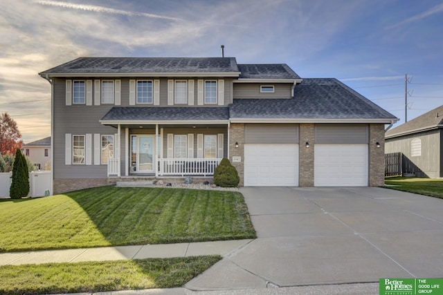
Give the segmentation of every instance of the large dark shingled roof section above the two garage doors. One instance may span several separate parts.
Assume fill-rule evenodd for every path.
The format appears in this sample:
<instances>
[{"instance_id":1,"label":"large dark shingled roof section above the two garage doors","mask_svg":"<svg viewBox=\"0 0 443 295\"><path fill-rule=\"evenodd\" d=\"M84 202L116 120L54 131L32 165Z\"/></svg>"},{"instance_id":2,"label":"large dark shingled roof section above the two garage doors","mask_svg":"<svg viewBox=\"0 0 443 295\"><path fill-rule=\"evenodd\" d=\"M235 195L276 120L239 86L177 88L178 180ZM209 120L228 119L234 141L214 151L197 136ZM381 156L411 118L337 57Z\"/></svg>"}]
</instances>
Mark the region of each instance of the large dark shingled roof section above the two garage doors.
<instances>
[{"instance_id":1,"label":"large dark shingled roof section above the two garage doors","mask_svg":"<svg viewBox=\"0 0 443 295\"><path fill-rule=\"evenodd\" d=\"M399 120L337 79L303 79L293 99L234 99L231 122L379 122Z\"/></svg>"}]
</instances>

